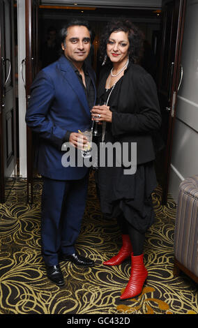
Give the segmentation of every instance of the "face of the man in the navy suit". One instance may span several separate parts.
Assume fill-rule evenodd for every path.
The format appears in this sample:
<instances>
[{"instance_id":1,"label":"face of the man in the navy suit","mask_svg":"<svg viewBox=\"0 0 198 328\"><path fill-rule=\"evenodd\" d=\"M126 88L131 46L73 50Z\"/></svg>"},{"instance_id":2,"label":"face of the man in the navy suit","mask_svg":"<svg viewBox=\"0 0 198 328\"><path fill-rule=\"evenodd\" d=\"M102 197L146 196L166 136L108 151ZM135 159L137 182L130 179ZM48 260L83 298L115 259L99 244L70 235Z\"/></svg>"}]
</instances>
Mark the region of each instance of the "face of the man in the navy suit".
<instances>
[{"instance_id":1,"label":"face of the man in the navy suit","mask_svg":"<svg viewBox=\"0 0 198 328\"><path fill-rule=\"evenodd\" d=\"M68 27L65 43L62 43L65 56L74 62L81 62L89 55L91 38L89 30L84 26Z\"/></svg>"}]
</instances>

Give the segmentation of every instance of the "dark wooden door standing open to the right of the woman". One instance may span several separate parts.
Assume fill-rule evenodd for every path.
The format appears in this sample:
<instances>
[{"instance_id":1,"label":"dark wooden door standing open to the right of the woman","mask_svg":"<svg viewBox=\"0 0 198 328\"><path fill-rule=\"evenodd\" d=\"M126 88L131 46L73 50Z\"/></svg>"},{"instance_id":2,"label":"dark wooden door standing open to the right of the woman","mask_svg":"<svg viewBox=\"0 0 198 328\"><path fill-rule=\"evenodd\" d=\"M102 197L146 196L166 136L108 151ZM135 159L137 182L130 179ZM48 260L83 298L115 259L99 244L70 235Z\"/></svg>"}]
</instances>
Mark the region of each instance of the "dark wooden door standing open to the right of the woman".
<instances>
[{"instance_id":1,"label":"dark wooden door standing open to the right of the woman","mask_svg":"<svg viewBox=\"0 0 198 328\"><path fill-rule=\"evenodd\" d=\"M167 202L169 172L172 158L172 139L176 117L176 98L181 82L181 46L185 21L185 0L162 0L162 27L158 91L162 112L162 137L165 148L156 161L158 181L162 186L162 203Z\"/></svg>"}]
</instances>

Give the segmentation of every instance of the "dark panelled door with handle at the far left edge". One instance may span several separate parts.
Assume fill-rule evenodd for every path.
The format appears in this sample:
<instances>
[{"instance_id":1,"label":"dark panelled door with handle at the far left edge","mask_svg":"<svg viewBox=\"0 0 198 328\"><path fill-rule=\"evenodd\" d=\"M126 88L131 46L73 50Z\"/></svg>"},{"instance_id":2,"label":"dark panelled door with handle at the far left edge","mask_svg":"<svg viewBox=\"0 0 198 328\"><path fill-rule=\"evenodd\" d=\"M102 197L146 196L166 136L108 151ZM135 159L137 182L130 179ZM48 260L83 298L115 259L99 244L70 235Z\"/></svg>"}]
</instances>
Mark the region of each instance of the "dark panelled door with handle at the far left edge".
<instances>
[{"instance_id":1,"label":"dark panelled door with handle at the far left edge","mask_svg":"<svg viewBox=\"0 0 198 328\"><path fill-rule=\"evenodd\" d=\"M16 174L15 41L13 0L0 0L0 202Z\"/></svg>"}]
</instances>

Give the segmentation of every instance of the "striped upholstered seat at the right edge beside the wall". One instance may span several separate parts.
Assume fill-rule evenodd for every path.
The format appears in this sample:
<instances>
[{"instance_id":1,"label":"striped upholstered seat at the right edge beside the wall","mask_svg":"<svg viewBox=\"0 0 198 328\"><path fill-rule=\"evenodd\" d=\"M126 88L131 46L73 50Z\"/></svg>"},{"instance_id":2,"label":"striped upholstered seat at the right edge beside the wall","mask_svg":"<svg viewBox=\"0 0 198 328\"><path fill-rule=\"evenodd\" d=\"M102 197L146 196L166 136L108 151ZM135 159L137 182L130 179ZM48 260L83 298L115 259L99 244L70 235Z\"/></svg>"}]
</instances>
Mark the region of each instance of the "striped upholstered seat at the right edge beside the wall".
<instances>
[{"instance_id":1,"label":"striped upholstered seat at the right edge beside the wall","mask_svg":"<svg viewBox=\"0 0 198 328\"><path fill-rule=\"evenodd\" d=\"M198 175L185 179L179 186L174 255L198 276Z\"/></svg>"}]
</instances>

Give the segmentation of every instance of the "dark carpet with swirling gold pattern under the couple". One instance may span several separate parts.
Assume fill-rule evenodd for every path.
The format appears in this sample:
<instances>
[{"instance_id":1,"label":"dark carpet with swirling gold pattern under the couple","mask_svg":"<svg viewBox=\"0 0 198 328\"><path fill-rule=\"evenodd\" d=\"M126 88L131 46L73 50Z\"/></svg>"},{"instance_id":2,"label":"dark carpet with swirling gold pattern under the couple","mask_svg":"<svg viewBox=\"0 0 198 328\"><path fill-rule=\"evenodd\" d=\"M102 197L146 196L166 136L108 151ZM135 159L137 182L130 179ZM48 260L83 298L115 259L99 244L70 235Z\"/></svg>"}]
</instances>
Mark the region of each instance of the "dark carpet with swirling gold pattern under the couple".
<instances>
[{"instance_id":1,"label":"dark carpet with swirling gold pattern under the couple","mask_svg":"<svg viewBox=\"0 0 198 328\"><path fill-rule=\"evenodd\" d=\"M198 313L197 285L185 276L174 278L174 218L176 204L169 197L161 206L161 191L153 193L155 223L146 234L148 279L142 295L120 301L130 276L130 262L105 267L121 246L115 221L100 213L91 175L89 197L76 248L96 261L79 269L61 262L66 285L50 283L40 256L40 195L34 184L34 203L26 204L26 181L8 181L6 203L0 204L0 314L190 314Z\"/></svg>"}]
</instances>

